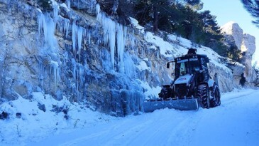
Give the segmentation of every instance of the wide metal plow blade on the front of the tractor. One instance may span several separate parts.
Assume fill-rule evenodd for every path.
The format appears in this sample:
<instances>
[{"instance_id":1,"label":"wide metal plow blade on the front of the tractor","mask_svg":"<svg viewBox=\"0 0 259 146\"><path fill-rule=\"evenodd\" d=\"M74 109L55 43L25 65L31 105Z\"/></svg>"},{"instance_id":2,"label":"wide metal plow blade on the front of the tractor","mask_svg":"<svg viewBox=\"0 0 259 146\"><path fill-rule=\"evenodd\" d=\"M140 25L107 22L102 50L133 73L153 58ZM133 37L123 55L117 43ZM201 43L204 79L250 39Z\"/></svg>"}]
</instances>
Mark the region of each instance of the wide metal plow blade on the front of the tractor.
<instances>
[{"instance_id":1,"label":"wide metal plow blade on the front of the tractor","mask_svg":"<svg viewBox=\"0 0 259 146\"><path fill-rule=\"evenodd\" d=\"M149 100L143 104L144 112L150 113L162 108L174 108L176 110L198 110L196 98L181 100Z\"/></svg>"}]
</instances>

